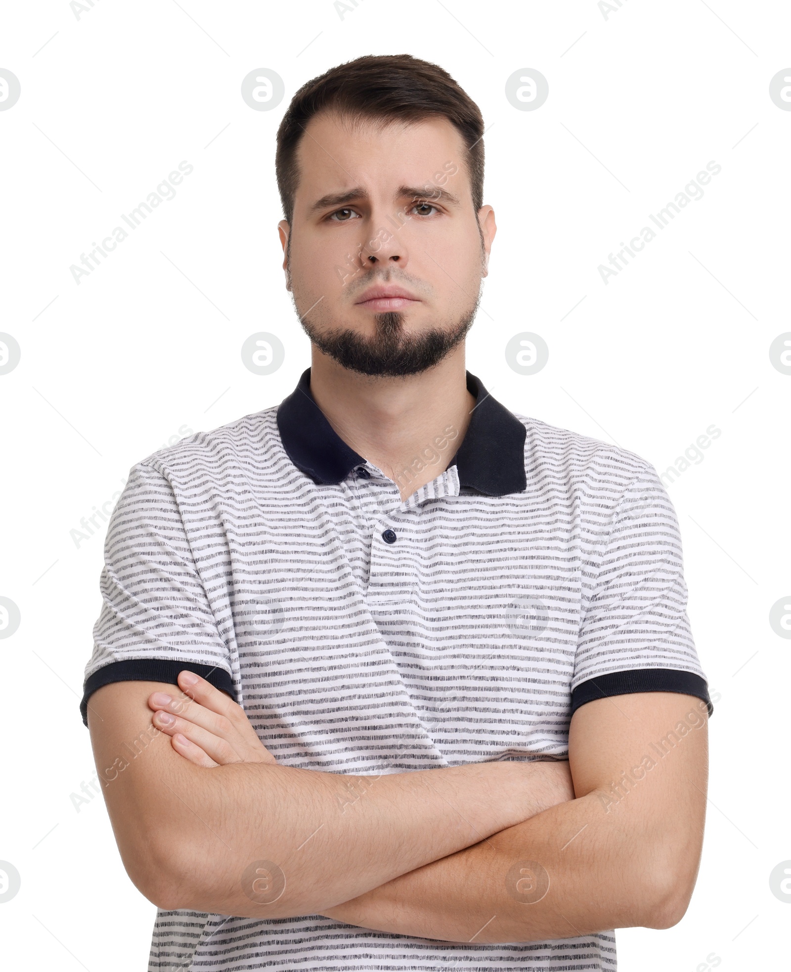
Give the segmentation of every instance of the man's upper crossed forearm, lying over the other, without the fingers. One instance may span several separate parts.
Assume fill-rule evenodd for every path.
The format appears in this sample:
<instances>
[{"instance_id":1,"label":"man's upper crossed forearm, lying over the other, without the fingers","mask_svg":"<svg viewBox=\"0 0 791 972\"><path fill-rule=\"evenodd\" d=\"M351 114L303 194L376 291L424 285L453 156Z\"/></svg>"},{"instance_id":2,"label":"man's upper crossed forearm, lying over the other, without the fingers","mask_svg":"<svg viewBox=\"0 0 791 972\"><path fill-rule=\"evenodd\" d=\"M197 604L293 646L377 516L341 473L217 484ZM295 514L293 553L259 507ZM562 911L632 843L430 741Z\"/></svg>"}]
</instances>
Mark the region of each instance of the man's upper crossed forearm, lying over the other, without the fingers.
<instances>
[{"instance_id":1,"label":"man's upper crossed forearm, lying over the other, without the fingers","mask_svg":"<svg viewBox=\"0 0 791 972\"><path fill-rule=\"evenodd\" d=\"M160 820L179 849L172 907L315 914L554 802L545 794L548 766L487 763L380 777L248 763L185 767L169 800L175 818ZM264 863L251 870L255 861Z\"/></svg>"}]
</instances>

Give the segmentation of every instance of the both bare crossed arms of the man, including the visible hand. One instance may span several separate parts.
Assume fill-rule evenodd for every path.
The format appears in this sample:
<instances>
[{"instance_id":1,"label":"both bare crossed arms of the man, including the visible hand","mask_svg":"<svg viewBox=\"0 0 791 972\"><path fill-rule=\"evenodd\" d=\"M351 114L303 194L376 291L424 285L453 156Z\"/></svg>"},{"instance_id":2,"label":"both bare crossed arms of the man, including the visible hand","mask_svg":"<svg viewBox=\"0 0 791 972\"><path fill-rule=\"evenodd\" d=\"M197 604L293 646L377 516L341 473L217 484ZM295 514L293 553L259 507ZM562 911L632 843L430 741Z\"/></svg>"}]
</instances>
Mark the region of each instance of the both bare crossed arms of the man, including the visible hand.
<instances>
[{"instance_id":1,"label":"both bare crossed arms of the man, including the visible hand","mask_svg":"<svg viewBox=\"0 0 791 972\"><path fill-rule=\"evenodd\" d=\"M705 818L700 699L590 702L568 763L349 777L278 766L223 692L185 673L180 686L115 682L88 706L121 858L161 908L480 943L665 928L686 911Z\"/></svg>"}]
</instances>

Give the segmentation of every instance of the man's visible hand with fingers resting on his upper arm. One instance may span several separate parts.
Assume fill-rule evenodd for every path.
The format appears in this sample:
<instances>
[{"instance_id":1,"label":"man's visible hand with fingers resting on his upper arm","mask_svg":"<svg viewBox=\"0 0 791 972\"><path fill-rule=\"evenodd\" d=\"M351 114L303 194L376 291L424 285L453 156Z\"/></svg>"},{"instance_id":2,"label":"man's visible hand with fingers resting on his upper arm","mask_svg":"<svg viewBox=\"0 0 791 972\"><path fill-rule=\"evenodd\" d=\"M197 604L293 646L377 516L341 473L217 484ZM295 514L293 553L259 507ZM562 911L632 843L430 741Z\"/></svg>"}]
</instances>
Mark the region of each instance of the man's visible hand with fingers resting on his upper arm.
<instances>
[{"instance_id":1,"label":"man's visible hand with fingers resting on his upper arm","mask_svg":"<svg viewBox=\"0 0 791 972\"><path fill-rule=\"evenodd\" d=\"M154 692L152 722L170 736L171 746L196 766L276 763L258 739L241 706L193 672L179 673L182 693Z\"/></svg>"}]
</instances>

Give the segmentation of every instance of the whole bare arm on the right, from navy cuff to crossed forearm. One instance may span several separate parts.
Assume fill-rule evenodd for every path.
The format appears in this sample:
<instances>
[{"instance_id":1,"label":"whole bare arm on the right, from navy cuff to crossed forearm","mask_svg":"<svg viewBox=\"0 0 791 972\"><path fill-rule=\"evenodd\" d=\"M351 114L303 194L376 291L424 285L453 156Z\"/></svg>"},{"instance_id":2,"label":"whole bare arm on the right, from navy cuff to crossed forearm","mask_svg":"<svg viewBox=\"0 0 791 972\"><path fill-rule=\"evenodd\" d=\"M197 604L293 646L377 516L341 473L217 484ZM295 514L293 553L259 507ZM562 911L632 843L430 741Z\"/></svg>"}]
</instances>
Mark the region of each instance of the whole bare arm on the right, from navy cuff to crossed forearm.
<instances>
[{"instance_id":1,"label":"whole bare arm on the right, from navy cuff to crossed forearm","mask_svg":"<svg viewBox=\"0 0 791 972\"><path fill-rule=\"evenodd\" d=\"M582 757L572 768L579 799L324 914L382 931L476 942L673 924L692 893L703 843L705 718L697 701L687 709L684 696L651 702L650 718L640 696L610 708L606 700L589 703L577 714L572 743ZM590 745L595 722L601 751ZM650 746L673 726L672 751ZM658 758L641 759L645 751ZM613 770L621 766L633 768L622 782L591 784L618 779Z\"/></svg>"}]
</instances>

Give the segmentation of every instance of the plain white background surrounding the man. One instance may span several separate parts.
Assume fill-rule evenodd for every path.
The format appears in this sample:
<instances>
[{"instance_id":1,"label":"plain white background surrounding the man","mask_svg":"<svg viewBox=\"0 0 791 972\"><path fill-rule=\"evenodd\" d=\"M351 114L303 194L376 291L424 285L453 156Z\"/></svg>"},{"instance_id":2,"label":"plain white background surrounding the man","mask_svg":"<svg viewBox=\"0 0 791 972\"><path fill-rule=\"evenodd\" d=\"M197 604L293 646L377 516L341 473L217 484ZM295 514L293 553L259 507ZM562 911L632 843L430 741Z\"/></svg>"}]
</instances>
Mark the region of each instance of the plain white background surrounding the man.
<instances>
[{"instance_id":1,"label":"plain white background surrounding the man","mask_svg":"<svg viewBox=\"0 0 791 972\"><path fill-rule=\"evenodd\" d=\"M448 70L487 125L485 201L499 233L469 368L511 409L617 442L660 472L709 425L722 430L669 486L689 615L720 696L703 863L680 924L618 932L619 967L693 972L713 954L725 972L780 968L791 908L769 875L791 858L791 643L769 611L791 592L791 376L769 348L791 330L791 112L769 83L791 63L791 10L337 6L96 0L78 18L67 0L38 0L0 12L0 67L21 84L0 112L0 330L21 347L0 376L0 595L21 612L0 641L0 860L21 875L0 905L5 967L146 967L155 906L123 871L101 797L79 811L71 797L93 774L78 704L103 530L79 546L71 531L180 429L213 429L291 392L309 344L280 266L277 125L295 89L328 67L409 52ZM285 82L273 111L240 95L260 67ZM504 94L525 67L549 83L535 111ZM69 266L183 159L194 171L176 197L78 285ZM599 264L709 160L722 171L705 196L604 284ZM240 357L258 330L286 347L266 377ZM526 330L549 346L533 376L503 355Z\"/></svg>"}]
</instances>

